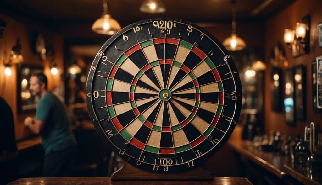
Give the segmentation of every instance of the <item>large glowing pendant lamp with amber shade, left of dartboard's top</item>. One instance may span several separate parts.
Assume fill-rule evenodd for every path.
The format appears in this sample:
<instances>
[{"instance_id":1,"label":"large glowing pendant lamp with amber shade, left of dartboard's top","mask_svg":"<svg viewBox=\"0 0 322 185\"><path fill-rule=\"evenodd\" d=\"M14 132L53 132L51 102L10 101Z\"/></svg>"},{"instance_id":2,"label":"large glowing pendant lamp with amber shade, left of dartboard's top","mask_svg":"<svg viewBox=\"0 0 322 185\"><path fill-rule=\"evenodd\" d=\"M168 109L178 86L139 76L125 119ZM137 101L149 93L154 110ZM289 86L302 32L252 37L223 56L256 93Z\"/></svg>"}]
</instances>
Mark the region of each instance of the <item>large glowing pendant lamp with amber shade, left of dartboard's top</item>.
<instances>
[{"instance_id":1,"label":"large glowing pendant lamp with amber shade, left of dartboard's top","mask_svg":"<svg viewBox=\"0 0 322 185\"><path fill-rule=\"evenodd\" d=\"M114 35L121 30L120 24L112 18L107 7L107 0L103 0L103 13L92 25L92 30L103 35Z\"/></svg>"}]
</instances>

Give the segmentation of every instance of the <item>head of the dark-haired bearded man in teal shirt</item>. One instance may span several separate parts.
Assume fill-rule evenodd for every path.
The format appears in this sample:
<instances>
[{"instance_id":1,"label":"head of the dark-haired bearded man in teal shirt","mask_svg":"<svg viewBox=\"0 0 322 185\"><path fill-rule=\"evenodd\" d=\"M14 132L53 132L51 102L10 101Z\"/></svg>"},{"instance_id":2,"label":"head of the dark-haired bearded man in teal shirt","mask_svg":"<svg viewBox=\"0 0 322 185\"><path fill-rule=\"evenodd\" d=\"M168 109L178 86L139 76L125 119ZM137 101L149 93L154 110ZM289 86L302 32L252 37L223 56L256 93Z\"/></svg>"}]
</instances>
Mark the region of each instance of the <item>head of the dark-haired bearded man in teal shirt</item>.
<instances>
[{"instance_id":1,"label":"head of the dark-haired bearded man in teal shirt","mask_svg":"<svg viewBox=\"0 0 322 185\"><path fill-rule=\"evenodd\" d=\"M29 79L29 90L32 95L41 95L47 90L47 77L43 73L34 73Z\"/></svg>"}]
</instances>

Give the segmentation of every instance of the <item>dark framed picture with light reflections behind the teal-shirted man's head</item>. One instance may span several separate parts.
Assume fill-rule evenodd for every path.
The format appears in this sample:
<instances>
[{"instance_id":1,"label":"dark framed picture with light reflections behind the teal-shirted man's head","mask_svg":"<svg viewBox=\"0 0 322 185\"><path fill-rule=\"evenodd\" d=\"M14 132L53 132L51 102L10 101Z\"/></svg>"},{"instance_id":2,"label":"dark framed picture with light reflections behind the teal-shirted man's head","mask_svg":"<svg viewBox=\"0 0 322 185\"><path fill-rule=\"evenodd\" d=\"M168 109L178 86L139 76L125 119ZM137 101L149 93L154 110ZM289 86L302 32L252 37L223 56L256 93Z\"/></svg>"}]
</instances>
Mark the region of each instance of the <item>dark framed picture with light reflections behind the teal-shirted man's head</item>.
<instances>
[{"instance_id":1,"label":"dark framed picture with light reflections behind the teal-shirted man's head","mask_svg":"<svg viewBox=\"0 0 322 185\"><path fill-rule=\"evenodd\" d=\"M17 110L18 113L35 110L38 96L34 96L29 90L29 78L33 73L43 73L43 67L33 65L18 65L17 73Z\"/></svg>"}]
</instances>

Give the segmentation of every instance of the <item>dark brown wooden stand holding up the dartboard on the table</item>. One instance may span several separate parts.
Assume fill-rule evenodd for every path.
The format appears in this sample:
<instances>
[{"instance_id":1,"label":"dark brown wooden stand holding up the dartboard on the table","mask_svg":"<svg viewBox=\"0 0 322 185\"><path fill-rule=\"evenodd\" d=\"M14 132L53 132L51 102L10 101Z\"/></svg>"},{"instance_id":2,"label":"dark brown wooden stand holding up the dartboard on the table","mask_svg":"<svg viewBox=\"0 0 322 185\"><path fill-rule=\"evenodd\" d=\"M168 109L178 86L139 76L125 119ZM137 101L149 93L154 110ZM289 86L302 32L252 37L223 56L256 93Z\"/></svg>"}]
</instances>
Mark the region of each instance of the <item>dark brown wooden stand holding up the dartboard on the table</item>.
<instances>
[{"instance_id":1,"label":"dark brown wooden stand holding up the dartboard on the table","mask_svg":"<svg viewBox=\"0 0 322 185\"><path fill-rule=\"evenodd\" d=\"M201 166L184 172L158 173L145 171L123 160L123 166L111 176L112 181L128 180L213 180L210 172Z\"/></svg>"}]
</instances>

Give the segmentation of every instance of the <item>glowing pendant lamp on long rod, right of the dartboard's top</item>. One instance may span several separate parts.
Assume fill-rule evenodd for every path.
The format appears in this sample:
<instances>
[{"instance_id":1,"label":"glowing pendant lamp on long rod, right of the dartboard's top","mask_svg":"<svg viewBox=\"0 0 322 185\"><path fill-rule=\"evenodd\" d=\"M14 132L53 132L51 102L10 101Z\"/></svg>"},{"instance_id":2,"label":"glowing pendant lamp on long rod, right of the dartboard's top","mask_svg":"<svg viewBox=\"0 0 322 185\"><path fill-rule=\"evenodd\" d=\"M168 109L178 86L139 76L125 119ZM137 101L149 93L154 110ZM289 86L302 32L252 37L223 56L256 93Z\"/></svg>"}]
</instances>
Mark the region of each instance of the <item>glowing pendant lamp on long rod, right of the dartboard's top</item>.
<instances>
[{"instance_id":1,"label":"glowing pendant lamp on long rod, right of the dartboard's top","mask_svg":"<svg viewBox=\"0 0 322 185\"><path fill-rule=\"evenodd\" d=\"M238 51L246 47L246 43L236 34L236 1L232 0L232 35L223 41L228 51Z\"/></svg>"}]
</instances>

